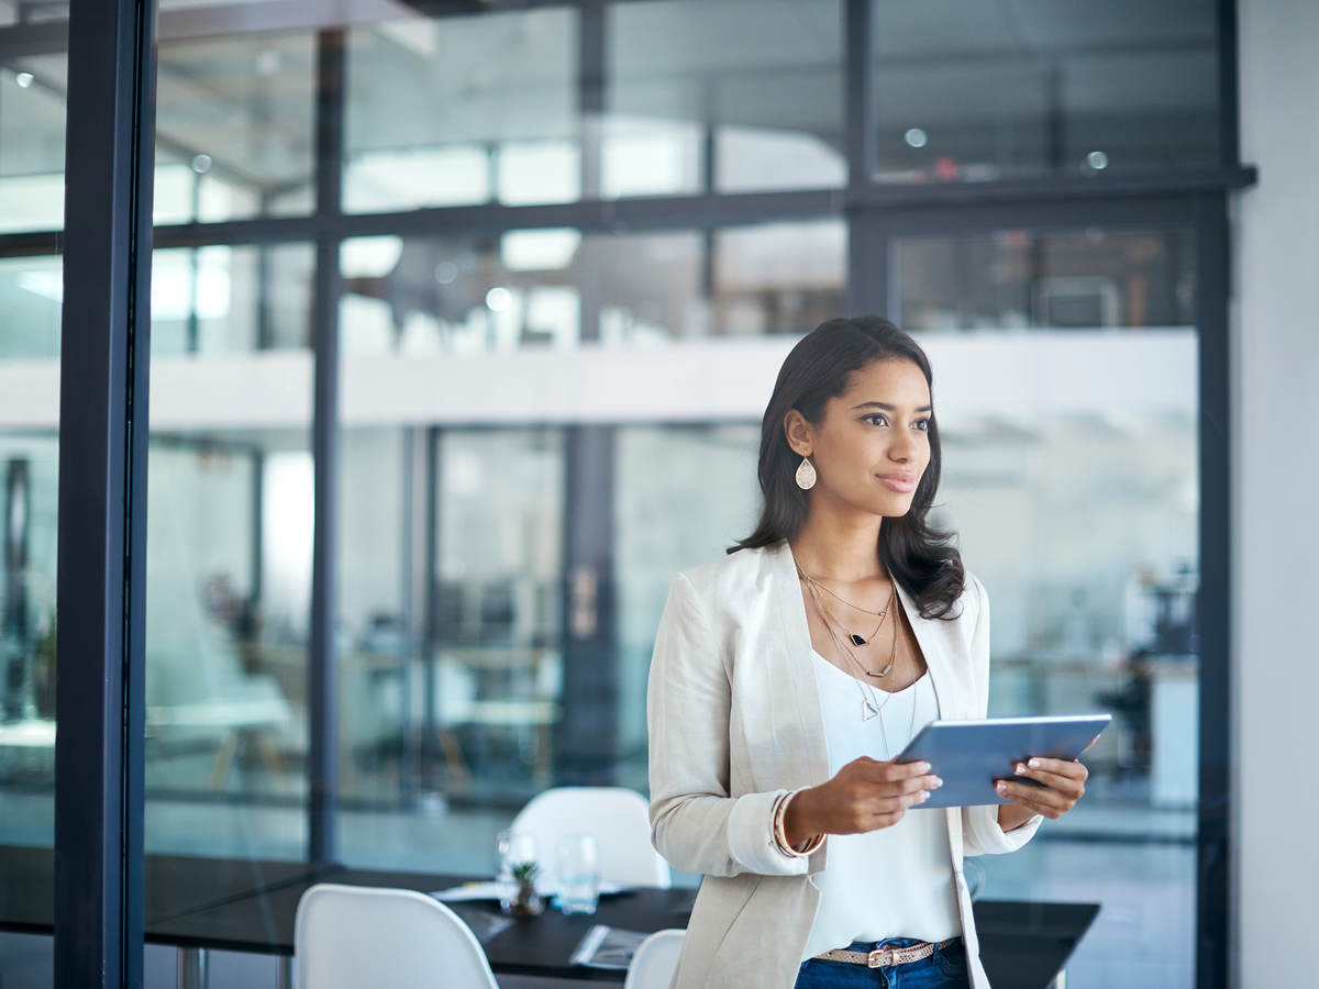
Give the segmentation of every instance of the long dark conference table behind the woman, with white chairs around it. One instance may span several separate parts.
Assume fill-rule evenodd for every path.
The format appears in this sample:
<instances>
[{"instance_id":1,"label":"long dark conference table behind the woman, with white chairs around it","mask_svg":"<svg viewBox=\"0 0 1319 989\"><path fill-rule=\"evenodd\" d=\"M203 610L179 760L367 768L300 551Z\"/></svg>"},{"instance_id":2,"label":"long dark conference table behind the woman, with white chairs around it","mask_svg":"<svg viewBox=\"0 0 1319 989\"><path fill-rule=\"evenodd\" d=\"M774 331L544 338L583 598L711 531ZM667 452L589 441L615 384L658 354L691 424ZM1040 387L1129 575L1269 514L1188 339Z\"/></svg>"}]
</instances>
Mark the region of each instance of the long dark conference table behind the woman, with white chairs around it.
<instances>
[{"instance_id":1,"label":"long dark conference table behind the woman, with white chairs around it","mask_svg":"<svg viewBox=\"0 0 1319 989\"><path fill-rule=\"evenodd\" d=\"M0 928L51 932L53 864L50 849L0 847ZM179 949L181 989L204 981L203 957L212 949L282 956L278 982L290 985L294 914L298 899L317 882L430 893L474 878L156 854L146 856L144 869L145 939ZM594 915L563 916L546 909L538 918L513 920L483 940L483 947L496 973L621 982L620 971L568 964L568 955L591 926L633 931L686 927L694 898L694 889L638 889L601 897ZM464 916L497 910L475 902L448 906ZM980 957L995 989L1046 989L1099 914L1099 905L976 901L975 911Z\"/></svg>"}]
</instances>

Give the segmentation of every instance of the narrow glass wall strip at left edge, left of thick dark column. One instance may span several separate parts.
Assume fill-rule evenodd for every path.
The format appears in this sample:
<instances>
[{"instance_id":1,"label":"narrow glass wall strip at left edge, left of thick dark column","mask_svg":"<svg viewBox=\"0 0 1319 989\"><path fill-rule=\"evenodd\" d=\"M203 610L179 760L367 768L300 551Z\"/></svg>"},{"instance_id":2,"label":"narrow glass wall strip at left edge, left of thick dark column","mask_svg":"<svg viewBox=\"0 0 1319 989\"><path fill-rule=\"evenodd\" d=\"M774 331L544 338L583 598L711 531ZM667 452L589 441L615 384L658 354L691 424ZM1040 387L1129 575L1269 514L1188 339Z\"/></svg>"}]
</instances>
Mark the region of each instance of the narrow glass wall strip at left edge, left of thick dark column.
<instances>
[{"instance_id":1,"label":"narrow glass wall strip at left edge, left of thick dark column","mask_svg":"<svg viewBox=\"0 0 1319 989\"><path fill-rule=\"evenodd\" d=\"M53 893L63 258L55 237L49 248L3 243L63 229L67 5L47 7L44 44L11 45L0 57L0 915L8 930L40 922ZM0 982L50 985L51 964L49 938L0 934Z\"/></svg>"}]
</instances>

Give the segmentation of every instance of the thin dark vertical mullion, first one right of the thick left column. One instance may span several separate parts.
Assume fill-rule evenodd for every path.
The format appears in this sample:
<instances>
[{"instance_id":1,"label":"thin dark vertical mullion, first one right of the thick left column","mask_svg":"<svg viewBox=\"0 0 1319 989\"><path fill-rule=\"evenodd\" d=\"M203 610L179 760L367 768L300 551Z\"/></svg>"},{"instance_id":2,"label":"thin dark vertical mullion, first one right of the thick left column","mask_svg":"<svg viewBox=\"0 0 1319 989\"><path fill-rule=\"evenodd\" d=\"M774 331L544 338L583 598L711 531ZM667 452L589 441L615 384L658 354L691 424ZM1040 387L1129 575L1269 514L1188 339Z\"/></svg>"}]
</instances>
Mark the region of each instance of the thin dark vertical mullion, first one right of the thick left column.
<instances>
[{"instance_id":1,"label":"thin dark vertical mullion, first one right of the thick left column","mask_svg":"<svg viewBox=\"0 0 1319 989\"><path fill-rule=\"evenodd\" d=\"M344 33L317 36L317 261L311 302L315 351L311 451L315 462L311 542L311 655L307 709L311 738L307 761L307 857L334 861L336 852L339 758L334 624L338 609L338 459L339 459L339 216L343 183Z\"/></svg>"}]
</instances>

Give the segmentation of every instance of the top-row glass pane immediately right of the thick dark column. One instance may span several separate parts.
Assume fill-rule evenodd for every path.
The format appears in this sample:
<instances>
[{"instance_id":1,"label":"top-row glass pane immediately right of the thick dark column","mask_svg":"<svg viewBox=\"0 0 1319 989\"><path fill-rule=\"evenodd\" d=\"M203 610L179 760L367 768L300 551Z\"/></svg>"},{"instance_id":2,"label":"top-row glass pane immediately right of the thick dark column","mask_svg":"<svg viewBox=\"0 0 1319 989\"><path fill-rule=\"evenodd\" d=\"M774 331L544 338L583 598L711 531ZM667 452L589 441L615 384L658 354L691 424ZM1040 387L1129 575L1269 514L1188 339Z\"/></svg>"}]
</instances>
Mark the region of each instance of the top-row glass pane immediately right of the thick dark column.
<instances>
[{"instance_id":1,"label":"top-row glass pane immediately right of the thick dark column","mask_svg":"<svg viewBox=\"0 0 1319 989\"><path fill-rule=\"evenodd\" d=\"M164 41L156 87L157 223L310 210L313 34Z\"/></svg>"}]
</instances>

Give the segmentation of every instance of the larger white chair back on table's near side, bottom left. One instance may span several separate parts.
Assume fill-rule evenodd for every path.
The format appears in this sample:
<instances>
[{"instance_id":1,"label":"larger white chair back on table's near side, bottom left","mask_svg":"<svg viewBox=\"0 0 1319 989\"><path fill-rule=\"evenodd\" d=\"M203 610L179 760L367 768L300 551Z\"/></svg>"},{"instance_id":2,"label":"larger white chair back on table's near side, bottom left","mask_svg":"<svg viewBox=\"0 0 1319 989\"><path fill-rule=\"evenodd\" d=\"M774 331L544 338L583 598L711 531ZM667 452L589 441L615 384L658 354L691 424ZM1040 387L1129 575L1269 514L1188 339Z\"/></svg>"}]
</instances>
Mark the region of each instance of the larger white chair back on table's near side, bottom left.
<instances>
[{"instance_id":1,"label":"larger white chair back on table's near side, bottom left","mask_svg":"<svg viewBox=\"0 0 1319 989\"><path fill-rule=\"evenodd\" d=\"M462 918L405 889L313 886L298 901L293 961L298 989L499 989Z\"/></svg>"}]
</instances>

